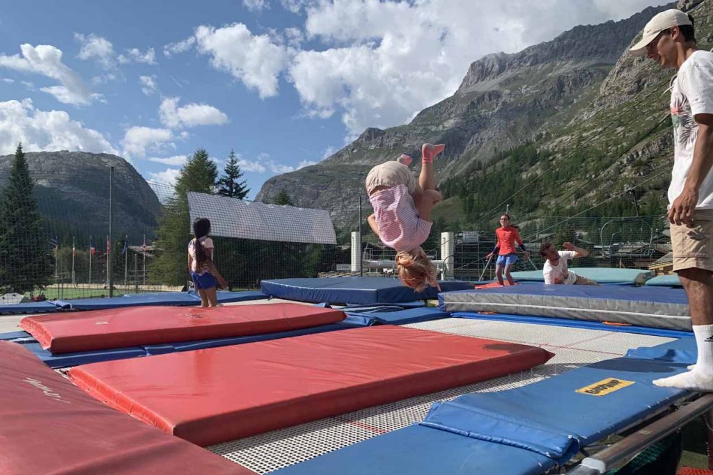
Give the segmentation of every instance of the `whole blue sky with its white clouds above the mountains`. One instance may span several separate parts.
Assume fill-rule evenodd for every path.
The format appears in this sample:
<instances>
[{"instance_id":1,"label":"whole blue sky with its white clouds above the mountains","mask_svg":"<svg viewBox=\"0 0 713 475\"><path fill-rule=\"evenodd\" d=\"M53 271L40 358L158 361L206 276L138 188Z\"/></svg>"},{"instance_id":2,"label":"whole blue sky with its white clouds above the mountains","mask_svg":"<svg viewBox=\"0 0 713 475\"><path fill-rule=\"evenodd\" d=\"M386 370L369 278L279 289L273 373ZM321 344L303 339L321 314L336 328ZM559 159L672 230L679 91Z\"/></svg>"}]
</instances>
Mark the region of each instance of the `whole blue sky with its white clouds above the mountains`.
<instances>
[{"instance_id":1,"label":"whole blue sky with its white clouds above the mountains","mask_svg":"<svg viewBox=\"0 0 713 475\"><path fill-rule=\"evenodd\" d=\"M268 177L408 122L469 64L652 0L36 0L0 5L0 154L109 152L170 183L204 147ZM543 18L560 21L543 21Z\"/></svg>"}]
</instances>

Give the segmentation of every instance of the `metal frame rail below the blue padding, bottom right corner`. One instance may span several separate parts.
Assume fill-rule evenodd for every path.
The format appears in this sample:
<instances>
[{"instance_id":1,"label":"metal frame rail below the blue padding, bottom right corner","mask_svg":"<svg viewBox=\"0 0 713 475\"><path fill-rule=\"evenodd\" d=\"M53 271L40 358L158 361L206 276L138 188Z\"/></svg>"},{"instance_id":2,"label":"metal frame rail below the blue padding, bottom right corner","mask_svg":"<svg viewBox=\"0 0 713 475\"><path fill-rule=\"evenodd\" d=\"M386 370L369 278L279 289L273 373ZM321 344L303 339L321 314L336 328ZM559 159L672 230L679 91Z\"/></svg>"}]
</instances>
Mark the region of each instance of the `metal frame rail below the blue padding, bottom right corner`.
<instances>
[{"instance_id":1,"label":"metal frame rail below the blue padding, bottom right corner","mask_svg":"<svg viewBox=\"0 0 713 475\"><path fill-rule=\"evenodd\" d=\"M583 459L579 466L568 473L570 475L605 474L613 466L622 461L627 461L643 449L659 442L711 409L713 409L713 394L704 395L676 412L668 414L625 437L625 439L611 447L607 447L597 452L597 454Z\"/></svg>"}]
</instances>

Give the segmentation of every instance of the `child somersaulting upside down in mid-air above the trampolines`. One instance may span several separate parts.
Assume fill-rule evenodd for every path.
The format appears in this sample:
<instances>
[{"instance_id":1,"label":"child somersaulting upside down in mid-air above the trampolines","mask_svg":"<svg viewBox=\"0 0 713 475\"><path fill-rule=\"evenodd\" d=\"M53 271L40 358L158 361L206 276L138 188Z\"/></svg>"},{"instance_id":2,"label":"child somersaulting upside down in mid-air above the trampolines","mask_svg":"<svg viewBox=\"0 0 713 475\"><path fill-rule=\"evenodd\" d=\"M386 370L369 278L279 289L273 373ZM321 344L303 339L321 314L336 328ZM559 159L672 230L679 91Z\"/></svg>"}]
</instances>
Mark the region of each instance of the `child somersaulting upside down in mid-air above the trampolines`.
<instances>
[{"instance_id":1,"label":"child somersaulting upside down in mid-air above the trampolines","mask_svg":"<svg viewBox=\"0 0 713 475\"><path fill-rule=\"evenodd\" d=\"M436 266L421 244L431 233L431 209L441 201L434 178L434 158L446 145L421 147L421 174L416 182L411 157L376 165L366 177L366 193L374 207L367 221L386 246L396 250L396 270L404 285L417 292L429 285L438 288Z\"/></svg>"}]
</instances>

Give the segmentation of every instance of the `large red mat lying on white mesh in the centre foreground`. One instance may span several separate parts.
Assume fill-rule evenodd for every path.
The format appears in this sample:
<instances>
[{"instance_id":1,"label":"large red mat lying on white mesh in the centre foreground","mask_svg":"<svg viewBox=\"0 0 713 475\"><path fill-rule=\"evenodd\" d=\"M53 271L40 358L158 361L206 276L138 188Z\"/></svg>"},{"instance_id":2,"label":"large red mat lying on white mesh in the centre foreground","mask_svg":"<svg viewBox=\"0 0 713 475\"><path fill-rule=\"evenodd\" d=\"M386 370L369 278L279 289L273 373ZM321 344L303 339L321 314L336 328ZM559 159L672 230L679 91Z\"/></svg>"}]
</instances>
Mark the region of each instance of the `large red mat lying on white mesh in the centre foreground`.
<instances>
[{"instance_id":1,"label":"large red mat lying on white mesh in the centre foreground","mask_svg":"<svg viewBox=\"0 0 713 475\"><path fill-rule=\"evenodd\" d=\"M527 345L382 325L74 367L76 385L199 445L541 365Z\"/></svg>"}]
</instances>

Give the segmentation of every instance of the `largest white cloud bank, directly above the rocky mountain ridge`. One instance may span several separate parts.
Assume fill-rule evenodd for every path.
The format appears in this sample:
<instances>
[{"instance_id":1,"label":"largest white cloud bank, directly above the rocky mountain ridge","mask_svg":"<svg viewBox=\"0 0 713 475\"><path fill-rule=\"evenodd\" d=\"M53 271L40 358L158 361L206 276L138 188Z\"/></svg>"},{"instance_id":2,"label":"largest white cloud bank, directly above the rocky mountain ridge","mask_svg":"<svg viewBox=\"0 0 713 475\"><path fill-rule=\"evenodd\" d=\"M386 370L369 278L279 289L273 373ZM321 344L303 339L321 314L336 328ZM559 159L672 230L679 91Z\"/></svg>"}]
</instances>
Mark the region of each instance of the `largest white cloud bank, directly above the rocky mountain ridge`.
<instances>
[{"instance_id":1,"label":"largest white cloud bank, directly above the rocky mountain ridge","mask_svg":"<svg viewBox=\"0 0 713 475\"><path fill-rule=\"evenodd\" d=\"M283 0L326 47L299 51L289 76L307 115L339 113L350 138L391 127L453 94L488 53L520 51L578 24L622 19L655 0ZM542 21L542 19L557 21Z\"/></svg>"}]
</instances>

